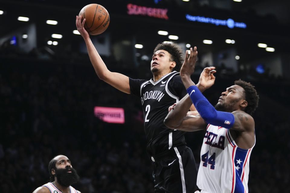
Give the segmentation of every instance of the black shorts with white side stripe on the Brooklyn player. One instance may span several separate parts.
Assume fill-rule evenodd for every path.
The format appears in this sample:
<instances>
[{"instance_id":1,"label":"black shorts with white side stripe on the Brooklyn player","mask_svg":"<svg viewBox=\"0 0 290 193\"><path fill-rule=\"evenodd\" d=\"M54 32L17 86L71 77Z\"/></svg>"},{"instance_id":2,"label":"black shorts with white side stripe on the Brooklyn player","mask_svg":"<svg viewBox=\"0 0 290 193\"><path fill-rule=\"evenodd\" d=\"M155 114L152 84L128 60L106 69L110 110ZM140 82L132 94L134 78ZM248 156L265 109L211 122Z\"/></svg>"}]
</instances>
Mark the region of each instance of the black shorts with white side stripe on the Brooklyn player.
<instances>
[{"instance_id":1,"label":"black shorts with white side stripe on the Brooklyn player","mask_svg":"<svg viewBox=\"0 0 290 193\"><path fill-rule=\"evenodd\" d=\"M197 170L189 147L172 147L164 157L151 157L155 192L194 193ZM153 161L154 160L154 161Z\"/></svg>"}]
</instances>

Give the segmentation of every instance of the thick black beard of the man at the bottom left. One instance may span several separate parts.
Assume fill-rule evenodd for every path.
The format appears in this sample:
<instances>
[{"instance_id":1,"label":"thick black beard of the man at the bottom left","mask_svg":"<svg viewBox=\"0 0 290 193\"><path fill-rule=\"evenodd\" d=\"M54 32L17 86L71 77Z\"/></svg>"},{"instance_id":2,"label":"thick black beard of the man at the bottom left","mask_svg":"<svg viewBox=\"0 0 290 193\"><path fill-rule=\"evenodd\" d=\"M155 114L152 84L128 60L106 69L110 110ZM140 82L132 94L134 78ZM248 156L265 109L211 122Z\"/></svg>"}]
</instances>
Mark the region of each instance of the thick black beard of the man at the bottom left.
<instances>
[{"instance_id":1,"label":"thick black beard of the man at the bottom left","mask_svg":"<svg viewBox=\"0 0 290 193\"><path fill-rule=\"evenodd\" d=\"M69 169L71 169L71 173L68 172ZM65 169L55 169L55 176L57 178L57 182L64 187L69 187L79 181L79 175L76 170L69 166Z\"/></svg>"}]
</instances>

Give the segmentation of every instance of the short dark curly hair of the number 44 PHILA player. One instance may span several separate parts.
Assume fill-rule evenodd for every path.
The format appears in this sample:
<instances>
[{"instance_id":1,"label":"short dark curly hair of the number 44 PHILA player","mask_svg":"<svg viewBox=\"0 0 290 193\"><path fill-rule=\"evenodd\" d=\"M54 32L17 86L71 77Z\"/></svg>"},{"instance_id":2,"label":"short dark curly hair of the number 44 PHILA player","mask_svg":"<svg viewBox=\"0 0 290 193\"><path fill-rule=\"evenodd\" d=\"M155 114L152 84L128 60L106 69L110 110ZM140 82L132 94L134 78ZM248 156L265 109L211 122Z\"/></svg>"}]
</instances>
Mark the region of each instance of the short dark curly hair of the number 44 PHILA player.
<instances>
[{"instance_id":1,"label":"short dark curly hair of the number 44 PHILA player","mask_svg":"<svg viewBox=\"0 0 290 193\"><path fill-rule=\"evenodd\" d=\"M239 85L244 89L244 97L245 100L248 102L248 106L245 109L245 112L249 115L252 115L255 112L256 108L258 107L259 103L259 95L255 89L255 87L246 81L237 80L235 81L235 85Z\"/></svg>"}]
</instances>

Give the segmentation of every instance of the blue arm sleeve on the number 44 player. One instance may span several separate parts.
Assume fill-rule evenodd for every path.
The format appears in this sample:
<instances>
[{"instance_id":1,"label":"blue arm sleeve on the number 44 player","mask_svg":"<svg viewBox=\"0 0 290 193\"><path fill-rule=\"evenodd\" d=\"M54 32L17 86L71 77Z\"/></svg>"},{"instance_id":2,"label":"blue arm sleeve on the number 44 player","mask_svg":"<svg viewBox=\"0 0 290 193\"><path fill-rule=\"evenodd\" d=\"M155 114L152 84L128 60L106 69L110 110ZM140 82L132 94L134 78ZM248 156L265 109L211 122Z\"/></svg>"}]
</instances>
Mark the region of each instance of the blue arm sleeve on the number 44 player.
<instances>
[{"instance_id":1,"label":"blue arm sleeve on the number 44 player","mask_svg":"<svg viewBox=\"0 0 290 193\"><path fill-rule=\"evenodd\" d=\"M198 90L197 86L191 86L187 89L187 93L192 100L198 113L208 124L221 126L224 128L231 128L234 125L235 118L232 113L217 111L211 103Z\"/></svg>"}]
</instances>

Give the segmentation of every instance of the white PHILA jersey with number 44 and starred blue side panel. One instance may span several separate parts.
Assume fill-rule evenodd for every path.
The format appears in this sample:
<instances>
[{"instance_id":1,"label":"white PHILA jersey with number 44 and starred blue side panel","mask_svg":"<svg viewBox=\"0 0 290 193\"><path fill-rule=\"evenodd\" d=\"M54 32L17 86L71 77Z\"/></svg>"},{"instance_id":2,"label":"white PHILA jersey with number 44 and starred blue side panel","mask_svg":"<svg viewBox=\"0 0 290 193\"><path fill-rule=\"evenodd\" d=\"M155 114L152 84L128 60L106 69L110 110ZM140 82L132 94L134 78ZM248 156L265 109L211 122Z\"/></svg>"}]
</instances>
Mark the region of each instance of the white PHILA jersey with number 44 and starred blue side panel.
<instances>
[{"instance_id":1,"label":"white PHILA jersey with number 44 and starred blue side panel","mask_svg":"<svg viewBox=\"0 0 290 193\"><path fill-rule=\"evenodd\" d=\"M201 193L247 193L253 147L237 147L229 129L208 125L197 176Z\"/></svg>"}]
</instances>

